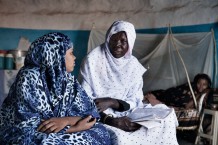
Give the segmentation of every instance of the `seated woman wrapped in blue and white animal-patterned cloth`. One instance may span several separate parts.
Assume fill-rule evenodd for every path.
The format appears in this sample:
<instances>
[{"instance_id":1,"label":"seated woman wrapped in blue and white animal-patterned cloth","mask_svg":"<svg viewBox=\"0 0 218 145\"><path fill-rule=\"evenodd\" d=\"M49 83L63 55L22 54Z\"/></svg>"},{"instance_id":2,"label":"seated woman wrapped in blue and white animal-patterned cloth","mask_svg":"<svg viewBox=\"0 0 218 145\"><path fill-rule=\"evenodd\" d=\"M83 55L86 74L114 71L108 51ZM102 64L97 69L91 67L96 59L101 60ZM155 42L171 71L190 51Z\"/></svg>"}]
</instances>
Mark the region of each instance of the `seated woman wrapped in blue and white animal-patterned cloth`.
<instances>
[{"instance_id":1,"label":"seated woman wrapped in blue and white animal-patterned cloth","mask_svg":"<svg viewBox=\"0 0 218 145\"><path fill-rule=\"evenodd\" d=\"M70 73L74 61L64 34L31 44L0 111L0 144L110 144L95 104Z\"/></svg>"}]
</instances>

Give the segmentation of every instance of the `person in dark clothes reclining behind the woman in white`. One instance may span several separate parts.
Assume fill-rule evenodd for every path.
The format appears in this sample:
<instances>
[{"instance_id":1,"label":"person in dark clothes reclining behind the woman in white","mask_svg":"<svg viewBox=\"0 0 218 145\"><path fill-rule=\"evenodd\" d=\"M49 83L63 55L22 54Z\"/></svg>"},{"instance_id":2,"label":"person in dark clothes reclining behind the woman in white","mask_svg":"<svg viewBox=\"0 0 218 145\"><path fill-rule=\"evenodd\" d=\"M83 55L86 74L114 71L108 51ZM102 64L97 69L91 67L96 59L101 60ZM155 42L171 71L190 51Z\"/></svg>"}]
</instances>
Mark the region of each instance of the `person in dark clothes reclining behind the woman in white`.
<instances>
[{"instance_id":1,"label":"person in dark clothes reclining behind the woman in white","mask_svg":"<svg viewBox=\"0 0 218 145\"><path fill-rule=\"evenodd\" d=\"M197 74L194 81L191 83L193 92L196 96L196 101L199 102L202 94L207 95L203 100L203 107L209 107L212 101L211 79L207 74ZM150 102L155 105L164 103L167 106L174 107L175 110L179 109L193 109L195 108L194 100L188 83L172 87L166 90L154 90L144 96L144 102Z\"/></svg>"}]
</instances>

